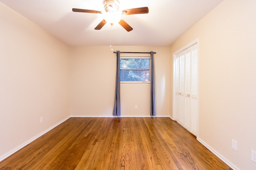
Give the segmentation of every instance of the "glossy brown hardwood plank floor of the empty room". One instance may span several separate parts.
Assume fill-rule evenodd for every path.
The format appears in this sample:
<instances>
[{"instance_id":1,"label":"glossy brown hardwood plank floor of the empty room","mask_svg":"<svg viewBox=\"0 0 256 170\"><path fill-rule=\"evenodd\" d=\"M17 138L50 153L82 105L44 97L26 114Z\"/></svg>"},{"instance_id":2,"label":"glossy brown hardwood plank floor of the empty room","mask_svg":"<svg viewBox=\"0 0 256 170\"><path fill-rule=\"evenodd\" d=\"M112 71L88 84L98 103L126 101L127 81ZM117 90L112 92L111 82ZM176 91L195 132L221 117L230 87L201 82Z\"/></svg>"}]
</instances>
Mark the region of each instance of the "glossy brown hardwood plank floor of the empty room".
<instances>
[{"instance_id":1,"label":"glossy brown hardwood plank floor of the empty room","mask_svg":"<svg viewBox=\"0 0 256 170\"><path fill-rule=\"evenodd\" d=\"M226 170L170 118L70 118L0 162L0 170Z\"/></svg>"}]
</instances>

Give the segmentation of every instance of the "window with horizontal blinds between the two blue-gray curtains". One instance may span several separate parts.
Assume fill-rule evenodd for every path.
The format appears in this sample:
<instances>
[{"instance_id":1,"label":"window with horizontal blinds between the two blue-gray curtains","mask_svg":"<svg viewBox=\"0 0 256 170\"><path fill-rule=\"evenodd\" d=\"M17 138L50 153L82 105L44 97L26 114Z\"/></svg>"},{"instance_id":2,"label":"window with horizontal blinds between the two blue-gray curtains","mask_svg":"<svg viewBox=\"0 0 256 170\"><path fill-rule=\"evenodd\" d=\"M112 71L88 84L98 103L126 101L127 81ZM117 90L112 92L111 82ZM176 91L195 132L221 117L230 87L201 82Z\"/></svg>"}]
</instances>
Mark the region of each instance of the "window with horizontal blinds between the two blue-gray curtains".
<instances>
[{"instance_id":1,"label":"window with horizontal blinds between the two blue-gray curtains","mask_svg":"<svg viewBox=\"0 0 256 170\"><path fill-rule=\"evenodd\" d=\"M150 83L150 57L120 57L120 82Z\"/></svg>"}]
</instances>

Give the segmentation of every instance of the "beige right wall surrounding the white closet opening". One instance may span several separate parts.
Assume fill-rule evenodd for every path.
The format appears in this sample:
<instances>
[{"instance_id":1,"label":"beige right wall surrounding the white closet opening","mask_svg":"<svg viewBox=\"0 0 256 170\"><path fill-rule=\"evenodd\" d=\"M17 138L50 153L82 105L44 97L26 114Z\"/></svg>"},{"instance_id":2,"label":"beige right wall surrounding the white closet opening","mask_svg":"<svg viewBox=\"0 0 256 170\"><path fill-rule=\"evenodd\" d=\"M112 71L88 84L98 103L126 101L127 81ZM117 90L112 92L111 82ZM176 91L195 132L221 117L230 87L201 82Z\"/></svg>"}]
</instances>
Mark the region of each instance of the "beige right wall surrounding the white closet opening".
<instances>
[{"instance_id":1,"label":"beige right wall surrounding the white closet opening","mask_svg":"<svg viewBox=\"0 0 256 170\"><path fill-rule=\"evenodd\" d=\"M256 169L255 21L255 0L224 0L170 47L199 38L198 140L240 170Z\"/></svg>"}]
</instances>

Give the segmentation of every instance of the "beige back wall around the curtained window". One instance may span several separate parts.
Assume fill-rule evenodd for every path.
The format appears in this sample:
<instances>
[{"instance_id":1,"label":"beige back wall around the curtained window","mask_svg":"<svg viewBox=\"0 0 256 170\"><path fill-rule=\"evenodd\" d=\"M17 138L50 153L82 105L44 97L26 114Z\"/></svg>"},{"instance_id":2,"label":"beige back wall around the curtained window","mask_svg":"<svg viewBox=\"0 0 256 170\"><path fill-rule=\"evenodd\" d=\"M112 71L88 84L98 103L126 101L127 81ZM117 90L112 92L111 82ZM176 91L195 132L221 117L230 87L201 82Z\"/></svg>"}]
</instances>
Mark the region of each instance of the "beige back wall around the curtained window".
<instances>
[{"instance_id":1,"label":"beige back wall around the curtained window","mask_svg":"<svg viewBox=\"0 0 256 170\"><path fill-rule=\"evenodd\" d=\"M114 51L156 52L156 116L169 116L169 47L113 48ZM138 54L129 54L136 55ZM71 116L111 117L114 105L116 55L110 47L92 46L71 47L71 56ZM121 116L150 116L149 84L121 84L120 94ZM138 109L135 109L135 105L138 105Z\"/></svg>"}]
</instances>

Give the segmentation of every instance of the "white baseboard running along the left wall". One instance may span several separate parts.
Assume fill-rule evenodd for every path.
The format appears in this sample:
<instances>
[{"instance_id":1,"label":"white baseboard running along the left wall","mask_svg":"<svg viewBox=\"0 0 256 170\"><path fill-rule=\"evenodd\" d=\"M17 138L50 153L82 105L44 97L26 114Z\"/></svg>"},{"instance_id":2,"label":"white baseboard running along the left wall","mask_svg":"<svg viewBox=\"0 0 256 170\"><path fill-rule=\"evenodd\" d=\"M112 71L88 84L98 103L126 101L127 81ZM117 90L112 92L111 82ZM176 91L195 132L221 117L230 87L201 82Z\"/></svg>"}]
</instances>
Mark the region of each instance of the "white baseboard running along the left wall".
<instances>
[{"instance_id":1,"label":"white baseboard running along the left wall","mask_svg":"<svg viewBox=\"0 0 256 170\"><path fill-rule=\"evenodd\" d=\"M60 124L61 124L61 123L63 123L64 121L68 120L69 118L70 118L70 116L69 116L69 117L67 117L66 119L64 119L64 120L60 121L60 122L59 122L59 123L57 123L56 125L54 125L54 126L50 127L50 128L49 128L49 129L47 129L46 131L44 131L44 132L40 133L40 134L39 134L39 135L37 135L36 137L34 137L34 138L30 139L30 140L29 140L29 141L27 141L26 143L24 143L24 144L20 145L19 147L17 147L16 149L12 150L12 151L11 151L11 152L9 152L8 154L5 154L4 156L0 157L0 162L1 162L2 160L6 159L7 157L11 156L12 154L14 154L15 152L17 152L18 150L20 150L20 149L22 149L22 148L26 147L26 145L28 145L28 144L30 144L31 142L33 142L34 140L38 139L38 138L39 138L39 137L41 137L42 135L46 134L48 131L50 131L50 130L54 129L54 127L57 127L58 125L60 125Z\"/></svg>"}]
</instances>

